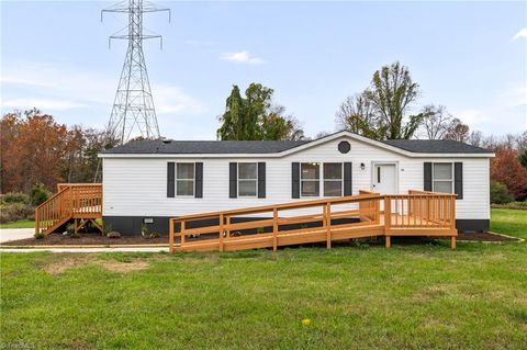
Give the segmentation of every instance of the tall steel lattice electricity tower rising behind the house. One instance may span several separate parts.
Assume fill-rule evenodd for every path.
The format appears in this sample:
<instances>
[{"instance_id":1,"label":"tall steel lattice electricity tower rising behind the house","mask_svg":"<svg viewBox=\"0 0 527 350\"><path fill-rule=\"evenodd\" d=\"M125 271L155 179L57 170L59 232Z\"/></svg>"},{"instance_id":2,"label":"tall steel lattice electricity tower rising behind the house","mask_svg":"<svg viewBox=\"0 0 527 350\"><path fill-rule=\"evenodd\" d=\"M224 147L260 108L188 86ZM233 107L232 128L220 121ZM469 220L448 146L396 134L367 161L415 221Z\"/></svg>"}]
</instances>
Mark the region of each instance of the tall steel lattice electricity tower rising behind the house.
<instances>
[{"instance_id":1,"label":"tall steel lattice electricity tower rising behind the house","mask_svg":"<svg viewBox=\"0 0 527 350\"><path fill-rule=\"evenodd\" d=\"M143 54L144 39L159 38L162 47L161 35L145 34L143 31L143 14L159 11L168 11L170 21L170 9L158 8L155 3L143 0L124 0L101 11L101 21L105 12L128 14L127 25L109 38L109 46L112 39L128 42L106 129L109 136L119 139L121 144L126 143L131 136L135 136L133 133L136 131L145 138L160 137Z\"/></svg>"}]
</instances>

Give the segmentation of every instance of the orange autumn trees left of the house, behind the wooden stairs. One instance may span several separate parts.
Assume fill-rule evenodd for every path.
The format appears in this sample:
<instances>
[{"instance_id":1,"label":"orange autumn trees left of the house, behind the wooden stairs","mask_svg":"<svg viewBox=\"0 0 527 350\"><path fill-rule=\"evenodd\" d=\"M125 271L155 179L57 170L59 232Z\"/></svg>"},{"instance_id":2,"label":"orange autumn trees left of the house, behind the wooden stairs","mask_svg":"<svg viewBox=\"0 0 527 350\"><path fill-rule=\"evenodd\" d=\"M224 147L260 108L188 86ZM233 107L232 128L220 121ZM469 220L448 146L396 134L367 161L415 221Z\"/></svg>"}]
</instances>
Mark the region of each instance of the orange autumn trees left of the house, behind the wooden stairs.
<instances>
[{"instance_id":1,"label":"orange autumn trees left of the house, behind the wooden stairs","mask_svg":"<svg viewBox=\"0 0 527 350\"><path fill-rule=\"evenodd\" d=\"M30 193L35 184L100 181L98 154L117 145L104 131L67 126L37 109L0 121L0 193ZM99 173L97 173L99 171Z\"/></svg>"}]
</instances>

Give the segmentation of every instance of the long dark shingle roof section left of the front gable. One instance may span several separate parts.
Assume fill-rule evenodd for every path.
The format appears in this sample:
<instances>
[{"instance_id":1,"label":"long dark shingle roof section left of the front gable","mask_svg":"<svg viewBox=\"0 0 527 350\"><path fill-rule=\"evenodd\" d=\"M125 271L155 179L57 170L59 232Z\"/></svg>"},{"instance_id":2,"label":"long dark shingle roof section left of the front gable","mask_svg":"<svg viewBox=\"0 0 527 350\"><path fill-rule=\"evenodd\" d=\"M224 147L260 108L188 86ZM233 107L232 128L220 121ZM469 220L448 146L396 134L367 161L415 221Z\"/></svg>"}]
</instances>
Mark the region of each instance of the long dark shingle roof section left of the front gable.
<instances>
[{"instance_id":1,"label":"long dark shingle roof section left of the front gable","mask_svg":"<svg viewBox=\"0 0 527 350\"><path fill-rule=\"evenodd\" d=\"M309 140L135 140L103 154L277 154Z\"/></svg>"}]
</instances>

